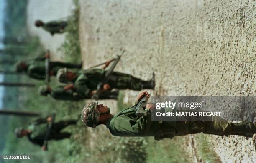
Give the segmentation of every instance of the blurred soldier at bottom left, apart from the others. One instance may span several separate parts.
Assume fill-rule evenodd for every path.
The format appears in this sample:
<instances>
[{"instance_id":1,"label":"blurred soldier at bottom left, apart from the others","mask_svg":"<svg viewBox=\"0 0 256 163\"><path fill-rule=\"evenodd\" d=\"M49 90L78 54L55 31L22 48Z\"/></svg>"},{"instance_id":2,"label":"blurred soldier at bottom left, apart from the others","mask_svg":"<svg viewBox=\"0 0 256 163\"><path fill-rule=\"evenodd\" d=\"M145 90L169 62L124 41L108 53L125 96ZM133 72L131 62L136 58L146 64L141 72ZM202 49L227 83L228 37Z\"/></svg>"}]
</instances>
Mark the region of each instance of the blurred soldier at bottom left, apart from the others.
<instances>
[{"instance_id":1,"label":"blurred soldier at bottom left, apart from the others","mask_svg":"<svg viewBox=\"0 0 256 163\"><path fill-rule=\"evenodd\" d=\"M44 146L46 132L48 130L48 124L51 123L52 117L49 116L47 118L39 118L33 122L31 122L27 129L24 128L16 128L15 134L17 138L22 138L23 136L27 136L28 140L32 143L41 146L42 150L46 151L47 148ZM53 123L50 134L47 140L61 140L64 138L69 138L71 133L68 132L60 132L65 127L76 124L77 120L66 120L59 121Z\"/></svg>"}]
</instances>

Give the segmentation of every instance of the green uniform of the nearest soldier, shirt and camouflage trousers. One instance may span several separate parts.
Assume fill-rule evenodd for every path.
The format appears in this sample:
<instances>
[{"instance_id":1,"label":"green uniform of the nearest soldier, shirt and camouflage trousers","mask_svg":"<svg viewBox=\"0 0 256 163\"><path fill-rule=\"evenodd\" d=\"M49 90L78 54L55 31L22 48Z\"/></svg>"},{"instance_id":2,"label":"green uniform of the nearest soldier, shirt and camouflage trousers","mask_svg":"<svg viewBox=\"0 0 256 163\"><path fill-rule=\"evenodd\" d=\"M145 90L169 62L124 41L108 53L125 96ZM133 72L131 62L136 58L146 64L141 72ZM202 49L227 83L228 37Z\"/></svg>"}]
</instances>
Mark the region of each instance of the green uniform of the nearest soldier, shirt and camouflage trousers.
<instances>
[{"instance_id":1,"label":"green uniform of the nearest soldier, shirt and camouflage trousers","mask_svg":"<svg viewBox=\"0 0 256 163\"><path fill-rule=\"evenodd\" d=\"M235 124L219 116L209 116L206 120L198 120L193 116L179 116L175 121L151 121L151 110L146 111L146 117L137 117L133 106L108 119L106 126L114 136L155 136L156 140L201 132L246 137L253 137L253 133L256 133L255 126L249 121Z\"/></svg>"}]
</instances>

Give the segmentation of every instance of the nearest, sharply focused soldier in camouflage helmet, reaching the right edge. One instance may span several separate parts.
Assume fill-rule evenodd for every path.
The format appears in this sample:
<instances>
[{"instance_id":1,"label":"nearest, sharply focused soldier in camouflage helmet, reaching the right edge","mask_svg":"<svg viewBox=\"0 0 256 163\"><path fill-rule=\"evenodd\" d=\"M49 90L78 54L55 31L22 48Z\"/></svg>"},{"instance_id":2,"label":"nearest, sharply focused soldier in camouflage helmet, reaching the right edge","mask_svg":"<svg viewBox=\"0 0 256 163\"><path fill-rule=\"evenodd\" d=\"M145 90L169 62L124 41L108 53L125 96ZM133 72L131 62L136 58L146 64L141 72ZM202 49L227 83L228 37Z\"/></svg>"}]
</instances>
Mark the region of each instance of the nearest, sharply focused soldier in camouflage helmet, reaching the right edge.
<instances>
[{"instance_id":1,"label":"nearest, sharply focused soldier in camouflage helmet, reaching the right edge","mask_svg":"<svg viewBox=\"0 0 256 163\"><path fill-rule=\"evenodd\" d=\"M148 92L139 94L136 102L147 96ZM147 104L146 116L136 116L136 105L120 111L116 115L110 114L110 108L92 102L84 106L82 121L87 127L95 128L104 124L114 136L154 136L155 140L172 138L193 133L207 133L219 136L242 135L253 137L256 133L256 124L253 121L229 123L219 116L209 116L209 121L192 121L193 117L176 117L177 121L151 121L153 104ZM253 115L253 119L255 114ZM188 118L188 119L185 119Z\"/></svg>"}]
</instances>

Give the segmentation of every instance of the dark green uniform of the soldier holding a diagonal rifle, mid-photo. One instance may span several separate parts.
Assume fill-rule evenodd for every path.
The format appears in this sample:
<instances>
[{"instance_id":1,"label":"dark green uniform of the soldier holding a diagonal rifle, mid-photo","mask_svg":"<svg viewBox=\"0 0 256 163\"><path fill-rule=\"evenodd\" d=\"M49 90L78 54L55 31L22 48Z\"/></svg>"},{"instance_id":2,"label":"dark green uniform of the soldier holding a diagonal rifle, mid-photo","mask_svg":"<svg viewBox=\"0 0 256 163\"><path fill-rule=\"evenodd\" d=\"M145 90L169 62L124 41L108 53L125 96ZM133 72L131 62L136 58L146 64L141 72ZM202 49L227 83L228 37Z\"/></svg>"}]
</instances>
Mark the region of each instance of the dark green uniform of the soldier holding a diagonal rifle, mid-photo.
<instances>
[{"instance_id":1,"label":"dark green uniform of the soldier holding a diagonal rifle, mid-photo","mask_svg":"<svg viewBox=\"0 0 256 163\"><path fill-rule=\"evenodd\" d=\"M82 70L78 73L77 78L73 80L74 88L80 94L88 96L91 91L97 89L98 84L100 84L103 78L103 69ZM154 89L154 86L151 86L151 81L144 81L130 74L120 72L113 72L108 84L112 89L131 89L136 91Z\"/></svg>"}]
</instances>

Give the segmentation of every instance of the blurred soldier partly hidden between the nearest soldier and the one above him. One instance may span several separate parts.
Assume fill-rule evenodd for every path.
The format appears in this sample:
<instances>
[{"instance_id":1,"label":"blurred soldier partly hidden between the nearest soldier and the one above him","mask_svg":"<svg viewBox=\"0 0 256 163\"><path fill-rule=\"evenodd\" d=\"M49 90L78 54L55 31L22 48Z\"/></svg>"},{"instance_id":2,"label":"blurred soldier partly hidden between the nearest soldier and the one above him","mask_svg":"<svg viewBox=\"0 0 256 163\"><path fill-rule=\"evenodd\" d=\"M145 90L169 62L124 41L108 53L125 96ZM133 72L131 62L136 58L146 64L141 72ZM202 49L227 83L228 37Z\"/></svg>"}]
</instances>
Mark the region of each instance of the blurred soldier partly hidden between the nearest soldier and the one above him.
<instances>
[{"instance_id":1,"label":"blurred soldier partly hidden between the nearest soldier and the one above him","mask_svg":"<svg viewBox=\"0 0 256 163\"><path fill-rule=\"evenodd\" d=\"M79 101L82 99L90 99L90 96L84 96L78 93L75 89L70 89L69 86L56 86L52 89L48 85L42 85L38 89L38 93L42 96L50 96L56 100ZM118 99L118 90L113 89L104 94L100 94L100 99Z\"/></svg>"}]
</instances>

